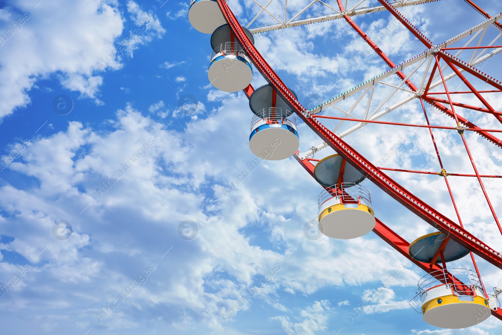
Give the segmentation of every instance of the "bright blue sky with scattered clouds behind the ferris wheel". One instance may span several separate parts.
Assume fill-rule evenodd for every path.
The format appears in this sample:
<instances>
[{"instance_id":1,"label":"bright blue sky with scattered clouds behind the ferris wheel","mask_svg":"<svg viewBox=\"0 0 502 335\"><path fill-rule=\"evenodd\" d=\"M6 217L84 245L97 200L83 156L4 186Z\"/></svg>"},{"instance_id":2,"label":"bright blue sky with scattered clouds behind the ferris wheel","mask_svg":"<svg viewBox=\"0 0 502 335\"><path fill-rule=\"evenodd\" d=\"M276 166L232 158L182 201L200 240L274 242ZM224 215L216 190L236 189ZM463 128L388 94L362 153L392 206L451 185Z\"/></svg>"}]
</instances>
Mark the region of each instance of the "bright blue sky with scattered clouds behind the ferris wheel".
<instances>
[{"instance_id":1,"label":"bright blue sky with scattered clouds behind the ferris wheel","mask_svg":"<svg viewBox=\"0 0 502 335\"><path fill-rule=\"evenodd\" d=\"M293 9L308 3L297 1ZM258 12L253 4L229 1L243 25ZM348 241L307 239L303 228L317 214L322 188L293 158L262 162L229 192L229 183L256 158L247 146L252 113L242 92L209 85L210 35L191 27L188 5L0 2L0 33L25 19L0 46L0 157L13 158L0 171L0 282L13 276L18 281L0 297L2 333L502 333L494 317L469 329L426 324L408 304L425 273L374 233ZM478 5L492 15L502 12L496 2ZM321 11L315 7L309 15ZM400 11L435 44L484 21L454 0ZM380 46L396 64L425 49L388 12L354 21L370 37L391 30ZM256 25L268 22L262 16ZM327 100L388 70L372 53L351 65L367 46L342 20L267 32L255 40L301 102L314 95ZM119 46L123 50L100 71L101 57ZM483 71L501 78L499 58L486 61ZM252 84L265 84L256 69ZM66 115L53 109L59 94L73 102ZM179 108L187 94L198 100L191 115ZM500 110L502 99L491 99ZM388 120L412 123L416 111L409 103ZM434 122L451 122L441 117L434 114ZM480 116L469 120L496 127ZM304 124L299 134L300 151L321 142ZM448 134L435 133L445 162L452 171L471 173L458 139ZM437 170L427 136L368 126L346 139L374 161L404 139L390 167ZM480 170L499 168L502 157L487 141L473 135L467 140ZM315 158L332 153L323 149ZM135 155L135 164L124 169ZM442 180L391 176L454 218ZM104 189L108 178L115 182ZM475 193L478 186L460 178L451 182L465 206L466 227L501 250L498 230ZM495 180L488 187L496 210L502 205L499 186ZM432 231L380 189L366 187L376 215L408 241ZM70 222L69 239L55 238L58 220ZM192 240L179 235L184 220L198 227ZM472 267L467 259L453 265ZM500 273L483 261L478 265L491 293ZM20 275L23 266L29 269ZM260 281L267 283L227 319L228 308ZM126 296L122 290L130 285L134 290ZM373 290L380 292L374 299ZM368 300L373 302L360 316L350 316ZM106 315L108 303L118 306Z\"/></svg>"}]
</instances>

